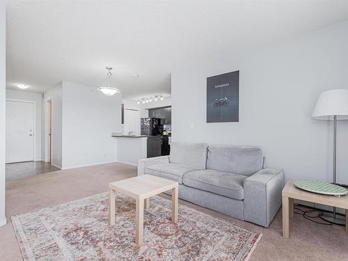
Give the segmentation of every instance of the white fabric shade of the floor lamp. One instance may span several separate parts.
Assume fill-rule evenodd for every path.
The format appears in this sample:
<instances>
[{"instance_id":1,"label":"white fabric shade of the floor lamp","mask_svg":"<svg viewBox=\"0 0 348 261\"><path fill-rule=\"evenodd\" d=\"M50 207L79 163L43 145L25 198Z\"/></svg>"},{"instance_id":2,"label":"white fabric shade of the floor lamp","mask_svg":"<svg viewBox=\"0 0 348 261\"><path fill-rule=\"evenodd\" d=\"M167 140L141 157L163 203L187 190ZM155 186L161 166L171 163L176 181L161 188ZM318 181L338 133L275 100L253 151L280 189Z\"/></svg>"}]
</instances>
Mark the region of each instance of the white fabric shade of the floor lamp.
<instances>
[{"instance_id":1,"label":"white fabric shade of the floor lamp","mask_svg":"<svg viewBox=\"0 0 348 261\"><path fill-rule=\"evenodd\" d=\"M320 94L312 118L333 120L333 116L337 120L348 120L348 90L326 90Z\"/></svg>"}]
</instances>

